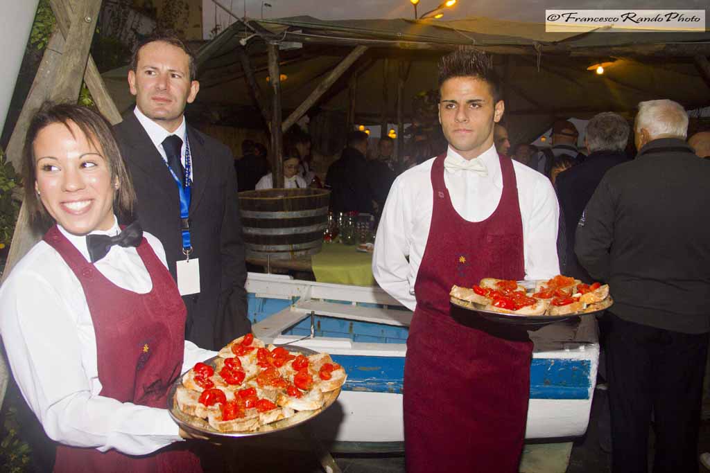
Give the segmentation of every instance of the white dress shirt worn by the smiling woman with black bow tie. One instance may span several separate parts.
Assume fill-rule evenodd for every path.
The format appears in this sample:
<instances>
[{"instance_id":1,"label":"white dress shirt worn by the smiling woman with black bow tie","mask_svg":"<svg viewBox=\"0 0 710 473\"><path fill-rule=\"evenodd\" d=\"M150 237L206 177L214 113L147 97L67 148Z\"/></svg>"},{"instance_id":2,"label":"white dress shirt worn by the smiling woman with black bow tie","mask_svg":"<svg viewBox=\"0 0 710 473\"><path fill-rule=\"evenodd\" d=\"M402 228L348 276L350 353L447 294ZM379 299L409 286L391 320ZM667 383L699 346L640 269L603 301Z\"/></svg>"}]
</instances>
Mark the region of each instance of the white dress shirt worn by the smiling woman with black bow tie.
<instances>
[{"instance_id":1,"label":"white dress shirt worn by the smiling woman with black bow tie","mask_svg":"<svg viewBox=\"0 0 710 473\"><path fill-rule=\"evenodd\" d=\"M63 235L89 261L86 238ZM116 235L119 227L95 231ZM163 245L143 235L166 267ZM134 247L114 245L96 268L123 289L146 294L153 283ZM37 243L0 287L0 333L23 397L47 435L65 445L146 455L182 440L167 409L99 396L96 334L82 285L60 254ZM182 372L217 355L185 341Z\"/></svg>"}]
</instances>

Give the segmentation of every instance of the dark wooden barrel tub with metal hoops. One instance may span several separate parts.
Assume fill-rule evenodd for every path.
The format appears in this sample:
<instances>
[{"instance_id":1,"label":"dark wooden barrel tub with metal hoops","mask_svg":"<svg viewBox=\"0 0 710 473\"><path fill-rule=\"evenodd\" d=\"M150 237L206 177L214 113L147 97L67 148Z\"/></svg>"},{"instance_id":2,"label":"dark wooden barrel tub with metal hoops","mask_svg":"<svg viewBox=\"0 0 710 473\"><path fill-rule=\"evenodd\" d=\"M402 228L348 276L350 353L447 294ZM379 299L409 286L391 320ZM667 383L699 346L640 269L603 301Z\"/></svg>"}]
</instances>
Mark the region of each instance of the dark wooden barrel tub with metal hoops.
<instances>
[{"instance_id":1,"label":"dark wooden barrel tub with metal hoops","mask_svg":"<svg viewBox=\"0 0 710 473\"><path fill-rule=\"evenodd\" d=\"M330 191L262 189L239 193L246 257L290 260L320 252Z\"/></svg>"}]
</instances>

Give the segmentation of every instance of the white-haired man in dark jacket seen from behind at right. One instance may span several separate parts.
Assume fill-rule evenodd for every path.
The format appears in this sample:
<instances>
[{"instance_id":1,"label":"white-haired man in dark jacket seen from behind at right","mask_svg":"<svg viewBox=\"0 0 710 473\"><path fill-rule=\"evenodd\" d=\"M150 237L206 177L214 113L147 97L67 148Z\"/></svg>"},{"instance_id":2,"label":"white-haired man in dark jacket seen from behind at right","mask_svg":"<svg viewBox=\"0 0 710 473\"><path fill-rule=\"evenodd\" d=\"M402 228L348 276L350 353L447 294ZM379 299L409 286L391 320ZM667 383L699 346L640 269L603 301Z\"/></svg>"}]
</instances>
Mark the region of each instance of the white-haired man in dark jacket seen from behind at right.
<instances>
[{"instance_id":1,"label":"white-haired man in dark jacket seen from behind at right","mask_svg":"<svg viewBox=\"0 0 710 473\"><path fill-rule=\"evenodd\" d=\"M688 116L670 100L639 104L636 159L606 172L577 226L575 252L608 282L613 472L697 472L710 332L710 162L685 143Z\"/></svg>"}]
</instances>

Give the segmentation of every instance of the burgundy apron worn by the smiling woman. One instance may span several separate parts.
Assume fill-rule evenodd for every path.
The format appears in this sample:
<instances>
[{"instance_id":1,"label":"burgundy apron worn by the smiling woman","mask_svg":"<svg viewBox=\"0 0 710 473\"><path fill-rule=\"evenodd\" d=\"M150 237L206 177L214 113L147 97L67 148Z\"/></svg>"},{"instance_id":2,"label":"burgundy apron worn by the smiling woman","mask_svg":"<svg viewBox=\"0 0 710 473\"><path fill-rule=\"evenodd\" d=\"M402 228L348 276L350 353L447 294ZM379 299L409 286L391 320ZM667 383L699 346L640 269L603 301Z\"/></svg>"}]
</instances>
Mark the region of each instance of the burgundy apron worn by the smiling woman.
<instances>
[{"instance_id":1,"label":"burgundy apron worn by the smiling woman","mask_svg":"<svg viewBox=\"0 0 710 473\"><path fill-rule=\"evenodd\" d=\"M168 389L182 368L187 311L151 245L143 238L137 250L153 289L136 294L104 277L57 226L50 228L44 240L59 252L84 288L96 333L99 394L139 406L167 408ZM182 443L141 457L59 445L54 471L192 473L202 468Z\"/></svg>"}]
</instances>

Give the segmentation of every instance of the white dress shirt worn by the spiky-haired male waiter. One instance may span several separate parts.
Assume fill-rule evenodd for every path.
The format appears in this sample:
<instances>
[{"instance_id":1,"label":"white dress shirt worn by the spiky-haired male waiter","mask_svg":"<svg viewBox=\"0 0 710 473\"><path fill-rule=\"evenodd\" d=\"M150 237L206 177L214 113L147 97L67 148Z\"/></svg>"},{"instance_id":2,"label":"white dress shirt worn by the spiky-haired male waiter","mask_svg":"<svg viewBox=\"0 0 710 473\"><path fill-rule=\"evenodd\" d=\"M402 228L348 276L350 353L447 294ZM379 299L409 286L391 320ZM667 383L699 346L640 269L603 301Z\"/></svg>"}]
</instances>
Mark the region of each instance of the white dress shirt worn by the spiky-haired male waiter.
<instances>
[{"instance_id":1,"label":"white dress shirt worn by the spiky-haired male waiter","mask_svg":"<svg viewBox=\"0 0 710 473\"><path fill-rule=\"evenodd\" d=\"M479 157L481 172L449 148L444 161L444 184L454 209L467 221L480 222L498 207L503 174L496 148ZM414 310L414 284L427 247L432 220L434 191L431 170L434 158L400 174L384 206L375 239L372 272L391 296ZM548 279L559 274L557 225L559 207L550 181L530 167L513 161L518 184L520 217L523 219L525 278Z\"/></svg>"}]
</instances>

